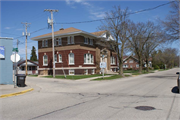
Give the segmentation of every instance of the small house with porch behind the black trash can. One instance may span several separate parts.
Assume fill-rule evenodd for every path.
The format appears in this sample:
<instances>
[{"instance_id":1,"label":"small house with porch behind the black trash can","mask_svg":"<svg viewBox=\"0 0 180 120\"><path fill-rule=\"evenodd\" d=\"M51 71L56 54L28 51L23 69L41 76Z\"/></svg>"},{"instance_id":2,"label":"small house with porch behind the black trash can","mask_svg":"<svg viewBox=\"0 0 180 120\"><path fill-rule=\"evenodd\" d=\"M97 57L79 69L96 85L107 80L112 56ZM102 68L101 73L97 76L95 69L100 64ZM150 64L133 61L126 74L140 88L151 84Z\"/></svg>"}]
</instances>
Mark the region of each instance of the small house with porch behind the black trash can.
<instances>
[{"instance_id":1,"label":"small house with porch behind the black trash can","mask_svg":"<svg viewBox=\"0 0 180 120\"><path fill-rule=\"evenodd\" d=\"M17 65L18 74L26 73L26 60L21 61ZM38 74L38 61L34 62L31 60L27 60L27 73L28 75Z\"/></svg>"}]
</instances>

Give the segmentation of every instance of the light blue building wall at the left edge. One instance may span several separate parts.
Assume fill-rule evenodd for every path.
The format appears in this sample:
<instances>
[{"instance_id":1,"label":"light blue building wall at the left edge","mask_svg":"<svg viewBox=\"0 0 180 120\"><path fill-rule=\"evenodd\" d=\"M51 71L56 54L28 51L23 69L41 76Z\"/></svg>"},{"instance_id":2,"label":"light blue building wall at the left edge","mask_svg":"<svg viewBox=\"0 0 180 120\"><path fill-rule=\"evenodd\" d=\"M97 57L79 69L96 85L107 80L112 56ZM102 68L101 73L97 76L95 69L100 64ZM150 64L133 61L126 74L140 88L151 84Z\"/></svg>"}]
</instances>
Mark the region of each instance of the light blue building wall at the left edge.
<instances>
[{"instance_id":1,"label":"light blue building wall at the left edge","mask_svg":"<svg viewBox=\"0 0 180 120\"><path fill-rule=\"evenodd\" d=\"M0 84L13 84L13 38L0 37Z\"/></svg>"}]
</instances>

